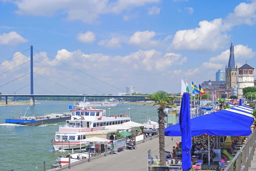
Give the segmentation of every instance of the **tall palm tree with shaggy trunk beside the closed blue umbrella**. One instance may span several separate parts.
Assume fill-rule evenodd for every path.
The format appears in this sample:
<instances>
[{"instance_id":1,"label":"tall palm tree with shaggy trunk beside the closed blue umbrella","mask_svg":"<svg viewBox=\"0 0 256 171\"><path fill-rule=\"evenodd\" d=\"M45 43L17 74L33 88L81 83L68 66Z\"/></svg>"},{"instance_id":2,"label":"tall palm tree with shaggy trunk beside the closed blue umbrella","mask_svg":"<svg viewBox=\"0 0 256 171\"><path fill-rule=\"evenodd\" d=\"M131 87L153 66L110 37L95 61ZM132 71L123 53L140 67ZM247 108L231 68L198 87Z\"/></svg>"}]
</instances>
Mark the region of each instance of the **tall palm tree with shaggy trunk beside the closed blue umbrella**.
<instances>
[{"instance_id":1,"label":"tall palm tree with shaggy trunk beside the closed blue umbrella","mask_svg":"<svg viewBox=\"0 0 256 171\"><path fill-rule=\"evenodd\" d=\"M165 120L164 120L164 109L169 105L173 104L173 100L175 97L170 97L171 94L167 94L166 92L160 90L157 91L146 99L150 99L154 101L154 105L158 105L157 113L158 113L158 123L159 123L159 154L160 154L160 165L164 165L164 154L165 154L165 142L164 142L164 128L165 128Z\"/></svg>"}]
</instances>

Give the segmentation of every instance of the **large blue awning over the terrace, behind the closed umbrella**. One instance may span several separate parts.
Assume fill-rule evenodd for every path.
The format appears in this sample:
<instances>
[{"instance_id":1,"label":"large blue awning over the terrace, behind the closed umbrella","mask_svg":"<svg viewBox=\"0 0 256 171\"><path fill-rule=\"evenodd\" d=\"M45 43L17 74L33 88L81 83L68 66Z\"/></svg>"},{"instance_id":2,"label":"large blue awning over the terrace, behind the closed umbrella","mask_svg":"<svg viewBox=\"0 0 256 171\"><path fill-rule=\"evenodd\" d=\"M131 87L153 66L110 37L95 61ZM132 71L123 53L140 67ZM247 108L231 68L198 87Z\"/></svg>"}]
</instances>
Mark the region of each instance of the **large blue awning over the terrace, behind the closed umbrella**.
<instances>
[{"instance_id":1,"label":"large blue awning over the terrace, behind the closed umbrella","mask_svg":"<svg viewBox=\"0 0 256 171\"><path fill-rule=\"evenodd\" d=\"M245 108L252 110L252 108ZM245 110L237 111L235 109L233 107L191 119L192 136L204 135L204 133L218 136L250 135L252 133L250 126L254 118L251 114L245 113ZM165 136L181 136L179 124L166 128Z\"/></svg>"}]
</instances>

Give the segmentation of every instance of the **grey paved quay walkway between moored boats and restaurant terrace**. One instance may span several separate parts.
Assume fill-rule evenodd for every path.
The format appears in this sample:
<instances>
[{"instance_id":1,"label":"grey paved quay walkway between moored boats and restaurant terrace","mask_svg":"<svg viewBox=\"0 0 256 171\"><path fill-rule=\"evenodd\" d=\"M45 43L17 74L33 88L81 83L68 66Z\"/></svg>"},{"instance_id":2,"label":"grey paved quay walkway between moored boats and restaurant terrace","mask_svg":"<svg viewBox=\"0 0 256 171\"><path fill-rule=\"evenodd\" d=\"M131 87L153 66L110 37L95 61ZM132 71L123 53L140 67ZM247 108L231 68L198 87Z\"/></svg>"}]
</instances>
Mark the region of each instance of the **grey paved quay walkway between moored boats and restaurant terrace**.
<instances>
[{"instance_id":1,"label":"grey paved quay walkway between moored boats and restaurant terrace","mask_svg":"<svg viewBox=\"0 0 256 171\"><path fill-rule=\"evenodd\" d=\"M172 146L180 142L180 137L165 137L166 151L171 151ZM80 165L71 166L64 171L146 171L147 152L151 149L151 155L159 155L159 139L154 138L137 145L136 150L121 151L119 154L100 157Z\"/></svg>"}]
</instances>

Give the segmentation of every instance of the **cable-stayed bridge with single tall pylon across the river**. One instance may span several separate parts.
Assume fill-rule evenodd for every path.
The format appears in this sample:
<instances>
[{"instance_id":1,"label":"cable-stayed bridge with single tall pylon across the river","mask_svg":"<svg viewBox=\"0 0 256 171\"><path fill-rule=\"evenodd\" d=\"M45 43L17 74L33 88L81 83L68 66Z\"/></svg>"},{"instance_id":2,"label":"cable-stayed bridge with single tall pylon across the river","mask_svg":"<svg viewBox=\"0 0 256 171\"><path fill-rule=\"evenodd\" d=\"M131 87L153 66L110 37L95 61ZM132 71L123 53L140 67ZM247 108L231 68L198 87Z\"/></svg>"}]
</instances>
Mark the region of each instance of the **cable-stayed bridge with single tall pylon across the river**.
<instances>
[{"instance_id":1,"label":"cable-stayed bridge with single tall pylon across the river","mask_svg":"<svg viewBox=\"0 0 256 171\"><path fill-rule=\"evenodd\" d=\"M71 89L68 88L68 87L64 87L63 85L58 84L58 83L56 83L56 82L54 82L54 81L52 81L52 80L50 80L50 79L48 79L48 78L45 78L44 76L39 75L38 73L34 72L34 71L33 71L33 62L36 62L36 63L42 65L43 67L46 67L46 68L48 68L48 69L50 69L50 70L52 70L52 71L54 71L54 72L57 72L58 74L64 75L64 74L62 74L61 72L58 72L58 71L56 71L56 70L53 70L52 68L47 67L47 66L45 66L44 64L41 64L41 63L38 62L38 61L34 61L34 60L33 60L33 50L35 50L35 51L37 51L38 53L41 53L41 54L43 54L43 55L46 55L46 56L49 57L49 58L52 58L52 57L49 56L49 55L47 55L47 54L45 54L44 52L41 52L41 51L39 51L39 50L37 50L37 49L34 49L33 46L30 46L30 49L27 49L27 50L25 50L25 51L23 51L23 52L20 52L20 53L17 54L17 55L23 54L24 52L29 51L29 50L30 50L30 60L24 62L23 64L26 64L26 63L30 62L30 72L28 72L28 73L26 73L26 74L24 74L24 75L22 75L22 76L20 76L20 77L18 77L18 78L15 78L14 80L9 81L9 82L6 83L6 84L0 85L0 87L6 86L7 84L12 83L13 81L18 80L18 79L22 78L22 77L25 76L25 75L29 75L29 74L30 74L30 84L27 85L27 86L25 86L25 87L29 87L29 86L30 86L30 94L16 94L16 93L15 93L15 92L17 92L17 91L19 91L19 90L25 88L25 87L22 87L22 88L20 88L20 89L18 89L18 90L15 90L14 92L12 92L12 93L15 93L15 94L10 93L10 94L2 94L2 95L0 95L0 97L5 97L5 99L6 99L6 104L8 103L8 97L9 97L9 99L15 99L15 98L17 98L17 97L30 97L30 99L29 99L29 104L33 106L33 105L35 105L35 97L84 97L84 96L85 96L85 95L79 94L79 93L77 93L76 91L71 90ZM15 58L17 55L13 56L12 58ZM6 61L9 61L9 60L12 59L12 58L9 58L9 59L3 61L3 62L1 62L0 64L4 63L4 62L6 62ZM98 79L98 78L96 78L96 77L94 77L94 76L92 76L92 75L89 75L89 74L85 73L84 71L81 71L81 70L79 70L79 69L77 69L77 68L75 68L75 67L72 67L72 66L70 66L70 65L68 65L68 64L65 64L64 62L61 62L61 61L57 60L56 58L52 58L52 59L53 59L53 60L56 60L56 61L58 61L58 62L60 62L61 64L65 65L65 66L67 66L67 67L70 67L70 68L76 70L77 72L81 72L81 73L83 73L83 74L85 74L85 75L87 75L87 76L89 76L89 77L91 77L91 78L94 78L94 79L96 79L96 80L98 80L98 81L101 81L102 83L107 84L107 85L110 86L110 87L113 87L113 88L115 88L115 89L117 89L117 90L121 90L121 89L119 89L118 87L115 87L115 86L113 86L113 85L111 85L111 84L108 84L108 83L105 82L105 81L102 81L102 80L100 80L100 79ZM9 71L11 71L11 70L14 70L14 69L16 69L16 68L22 66L23 64L20 64L20 65L17 66L17 67L14 67L14 68L12 68L12 69L6 71L6 72L1 73L0 76L3 75L3 74L5 74L5 73L7 73L7 72L9 72ZM57 84L57 85L59 85L59 86L61 86L61 87L64 87L64 88L66 88L66 89L68 89L68 90L70 90L70 91L73 91L73 92L77 93L77 95L70 95L70 94L68 94L68 95L57 95L57 94L54 94L54 93L52 93L52 94L44 94L44 95L42 95L42 94L34 94L34 86L39 87L39 86L37 86L37 85L34 84L34 74L35 74L35 75L38 75L38 76L40 76L41 78L44 78L44 79L46 79L46 80L48 80L48 81L51 81L51 82L53 82L53 83L55 83L55 84ZM64 76L67 77L67 78L69 78L69 79L71 79L71 80L73 80L73 81L78 82L79 84L82 84L82 85L84 85L84 86L86 86L86 87L89 87L89 88L91 88L91 89L93 89L93 90L96 90L95 88L90 87L90 86L88 86L88 85L82 83L81 81L77 81L77 80L75 80L75 79L73 79L73 78L71 78L71 77L69 77L69 76L67 76L67 75L64 75ZM45 89L42 88L42 87L39 87L39 88L45 90ZM48 90L46 90L46 91L49 92L49 93L51 93L51 92L48 91ZM145 98L145 97L147 97L147 96L125 96L125 95L118 96L118 95L107 95L106 93L103 93L103 92L101 92L101 91L99 91L99 90L96 90L96 91L102 93L102 95L86 95L86 96L87 96L87 97L106 97L106 98L125 98L125 97L128 97L128 98ZM121 91L122 91L122 92L125 92L124 90L121 90Z\"/></svg>"}]
</instances>

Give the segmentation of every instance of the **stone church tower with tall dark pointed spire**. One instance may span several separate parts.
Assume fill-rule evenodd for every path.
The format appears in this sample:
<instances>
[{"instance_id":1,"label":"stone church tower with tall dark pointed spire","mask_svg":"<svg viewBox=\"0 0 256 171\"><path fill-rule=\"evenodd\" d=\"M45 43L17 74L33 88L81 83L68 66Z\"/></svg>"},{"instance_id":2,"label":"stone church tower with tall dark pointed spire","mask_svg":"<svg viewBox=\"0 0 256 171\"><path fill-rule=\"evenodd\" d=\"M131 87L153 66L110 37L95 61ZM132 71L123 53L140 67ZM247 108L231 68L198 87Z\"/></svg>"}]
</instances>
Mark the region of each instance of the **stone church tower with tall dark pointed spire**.
<instances>
[{"instance_id":1,"label":"stone church tower with tall dark pointed spire","mask_svg":"<svg viewBox=\"0 0 256 171\"><path fill-rule=\"evenodd\" d=\"M226 90L237 84L237 65L235 65L234 46L231 38L230 58L226 65Z\"/></svg>"}]
</instances>

